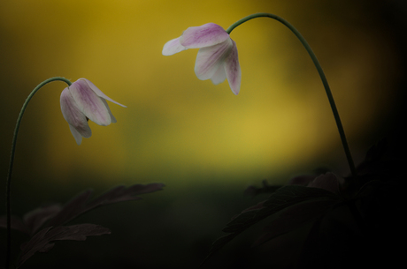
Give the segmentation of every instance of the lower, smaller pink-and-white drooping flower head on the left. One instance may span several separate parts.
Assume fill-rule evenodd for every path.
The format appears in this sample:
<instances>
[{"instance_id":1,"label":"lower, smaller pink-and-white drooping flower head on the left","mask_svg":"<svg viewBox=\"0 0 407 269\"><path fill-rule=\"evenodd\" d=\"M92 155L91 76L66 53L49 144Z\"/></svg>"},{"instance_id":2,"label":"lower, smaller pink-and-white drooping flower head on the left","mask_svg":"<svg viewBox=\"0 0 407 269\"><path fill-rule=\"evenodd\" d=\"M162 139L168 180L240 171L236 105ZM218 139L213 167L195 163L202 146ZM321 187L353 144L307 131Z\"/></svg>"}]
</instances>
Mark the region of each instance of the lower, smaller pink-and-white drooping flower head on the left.
<instances>
[{"instance_id":1,"label":"lower, smaller pink-and-white drooping flower head on the left","mask_svg":"<svg viewBox=\"0 0 407 269\"><path fill-rule=\"evenodd\" d=\"M106 96L86 78L76 80L62 91L60 98L62 115L69 123L69 129L78 145L81 145L82 137L90 138L92 135L88 120L102 126L117 122L106 100L126 108Z\"/></svg>"}]
</instances>

